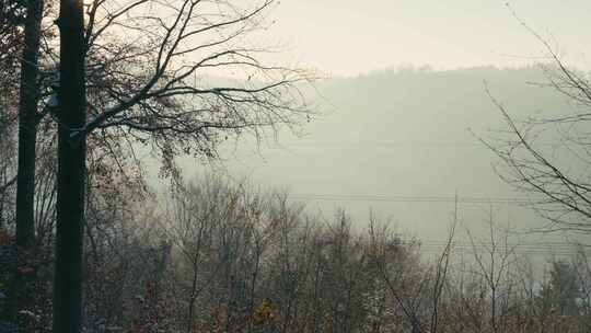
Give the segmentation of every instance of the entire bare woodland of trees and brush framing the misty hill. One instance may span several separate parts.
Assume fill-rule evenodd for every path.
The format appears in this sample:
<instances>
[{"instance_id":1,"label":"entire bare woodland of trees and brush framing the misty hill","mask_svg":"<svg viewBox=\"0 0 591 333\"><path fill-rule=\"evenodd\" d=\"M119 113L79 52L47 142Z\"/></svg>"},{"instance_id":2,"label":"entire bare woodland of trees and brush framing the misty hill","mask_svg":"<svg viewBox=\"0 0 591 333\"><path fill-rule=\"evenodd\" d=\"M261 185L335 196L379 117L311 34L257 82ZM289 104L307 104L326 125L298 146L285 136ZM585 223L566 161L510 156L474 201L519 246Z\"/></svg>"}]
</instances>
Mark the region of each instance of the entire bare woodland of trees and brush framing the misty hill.
<instances>
[{"instance_id":1,"label":"entire bare woodland of trees and brush framing the misty hill","mask_svg":"<svg viewBox=\"0 0 591 333\"><path fill-rule=\"evenodd\" d=\"M533 262L456 198L433 253L373 213L178 165L317 116L314 71L248 39L276 2L0 0L0 332L591 332L584 243ZM506 131L479 140L546 232L588 234L591 85L531 33L579 111L520 123L487 91ZM535 134L560 126L548 153Z\"/></svg>"}]
</instances>

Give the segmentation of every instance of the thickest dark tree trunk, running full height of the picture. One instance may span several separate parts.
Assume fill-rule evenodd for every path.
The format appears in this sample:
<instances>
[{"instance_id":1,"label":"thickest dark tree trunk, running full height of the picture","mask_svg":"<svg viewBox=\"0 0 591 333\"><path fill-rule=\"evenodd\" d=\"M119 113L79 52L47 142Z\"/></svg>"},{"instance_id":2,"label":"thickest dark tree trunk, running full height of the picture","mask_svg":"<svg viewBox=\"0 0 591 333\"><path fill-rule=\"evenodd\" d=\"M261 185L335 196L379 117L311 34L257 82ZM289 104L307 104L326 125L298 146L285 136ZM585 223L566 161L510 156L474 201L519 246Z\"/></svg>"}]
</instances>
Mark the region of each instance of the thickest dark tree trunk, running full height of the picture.
<instances>
[{"instance_id":1,"label":"thickest dark tree trunk, running full height of the picture","mask_svg":"<svg viewBox=\"0 0 591 333\"><path fill-rule=\"evenodd\" d=\"M82 0L61 0L57 231L54 332L79 333L82 322L85 136L84 18Z\"/></svg>"}]
</instances>

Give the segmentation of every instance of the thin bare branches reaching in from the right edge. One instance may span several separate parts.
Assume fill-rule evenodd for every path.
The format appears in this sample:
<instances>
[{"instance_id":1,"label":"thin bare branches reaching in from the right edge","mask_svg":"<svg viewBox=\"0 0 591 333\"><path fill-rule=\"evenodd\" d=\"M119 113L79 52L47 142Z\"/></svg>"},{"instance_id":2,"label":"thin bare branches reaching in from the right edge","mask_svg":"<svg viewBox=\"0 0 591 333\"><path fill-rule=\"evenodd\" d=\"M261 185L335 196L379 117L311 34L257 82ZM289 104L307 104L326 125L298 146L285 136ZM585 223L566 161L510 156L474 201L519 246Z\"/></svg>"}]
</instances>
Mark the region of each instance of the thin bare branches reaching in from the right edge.
<instances>
[{"instance_id":1,"label":"thin bare branches reaching in from the right edge","mask_svg":"<svg viewBox=\"0 0 591 333\"><path fill-rule=\"evenodd\" d=\"M499 174L530 196L531 206L548 223L544 231L591 231L591 185L587 172L591 157L591 83L589 76L569 67L547 39L514 18L536 38L547 55L540 64L547 82L535 83L566 97L569 107L555 116L530 116L517 120L510 106L488 91L507 124L507 136L483 140L501 161Z\"/></svg>"}]
</instances>

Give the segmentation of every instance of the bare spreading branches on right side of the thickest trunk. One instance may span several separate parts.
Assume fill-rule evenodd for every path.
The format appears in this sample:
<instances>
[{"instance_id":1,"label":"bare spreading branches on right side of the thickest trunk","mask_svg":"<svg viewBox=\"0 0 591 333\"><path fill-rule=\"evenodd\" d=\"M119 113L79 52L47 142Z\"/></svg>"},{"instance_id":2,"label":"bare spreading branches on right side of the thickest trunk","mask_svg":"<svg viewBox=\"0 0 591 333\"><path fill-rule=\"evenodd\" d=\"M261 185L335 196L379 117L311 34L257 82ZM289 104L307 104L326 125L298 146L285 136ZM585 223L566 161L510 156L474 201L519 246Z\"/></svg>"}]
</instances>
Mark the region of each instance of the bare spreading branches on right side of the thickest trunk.
<instances>
[{"instance_id":1,"label":"bare spreading branches on right side of the thickest trunk","mask_svg":"<svg viewBox=\"0 0 591 333\"><path fill-rule=\"evenodd\" d=\"M260 139L265 127L305 119L296 84L309 72L264 65L267 50L246 38L264 27L273 4L93 2L86 32L91 120L72 135L130 133L172 165L177 153L213 158L229 136L250 131Z\"/></svg>"}]
</instances>

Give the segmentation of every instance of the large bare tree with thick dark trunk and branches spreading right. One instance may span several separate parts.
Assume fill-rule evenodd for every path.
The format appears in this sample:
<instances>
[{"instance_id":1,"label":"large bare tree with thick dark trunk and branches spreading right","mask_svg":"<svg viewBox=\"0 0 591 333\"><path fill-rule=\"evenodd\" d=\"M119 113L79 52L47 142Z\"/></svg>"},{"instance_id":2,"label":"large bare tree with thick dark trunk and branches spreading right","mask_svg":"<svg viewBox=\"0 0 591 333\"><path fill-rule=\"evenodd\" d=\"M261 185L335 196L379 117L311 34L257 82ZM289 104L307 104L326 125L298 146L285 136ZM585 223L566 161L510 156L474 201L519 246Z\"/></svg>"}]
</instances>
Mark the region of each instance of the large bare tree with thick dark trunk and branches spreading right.
<instances>
[{"instance_id":1,"label":"large bare tree with thick dark trunk and branches spreading right","mask_svg":"<svg viewBox=\"0 0 591 333\"><path fill-rule=\"evenodd\" d=\"M273 2L260 1L241 9L227 1L95 1L90 5L84 34L82 2L61 1L57 331L66 330L60 326L66 323L70 330L78 330L80 323L76 313L81 290L89 135L109 128L121 135L128 130L137 140L159 148L174 172L173 161L178 153L213 158L217 143L228 134L250 130L259 137L260 128L292 125L306 115L294 85L306 77L298 70L262 65L257 60L260 50L241 41L260 26L259 20ZM153 7L159 9L159 15L153 13ZM127 39L112 47L109 41L117 38L115 32ZM112 83L88 87L94 102L89 105L91 118L86 122L83 96L91 81L84 79L84 58L91 59L93 48L105 50L96 62L105 77L93 83L100 79ZM120 68L126 70L121 72ZM224 68L246 70L247 77L239 82L230 80L229 84L199 84L207 70L215 73ZM70 287L66 289L66 285ZM66 308L67 312L61 312ZM63 317L66 313L73 317Z\"/></svg>"}]
</instances>

